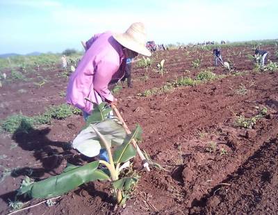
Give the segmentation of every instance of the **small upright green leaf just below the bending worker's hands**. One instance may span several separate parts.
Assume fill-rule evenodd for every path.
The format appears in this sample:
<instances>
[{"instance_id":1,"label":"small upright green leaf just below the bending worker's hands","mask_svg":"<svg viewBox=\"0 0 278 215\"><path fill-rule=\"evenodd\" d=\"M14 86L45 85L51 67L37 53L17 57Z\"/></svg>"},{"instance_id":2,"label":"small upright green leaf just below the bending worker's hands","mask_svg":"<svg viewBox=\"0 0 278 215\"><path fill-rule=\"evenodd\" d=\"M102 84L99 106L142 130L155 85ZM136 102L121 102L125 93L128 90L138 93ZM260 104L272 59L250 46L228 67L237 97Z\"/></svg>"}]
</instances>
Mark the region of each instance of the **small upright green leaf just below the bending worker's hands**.
<instances>
[{"instance_id":1,"label":"small upright green leaf just below the bending worker's hands","mask_svg":"<svg viewBox=\"0 0 278 215\"><path fill-rule=\"evenodd\" d=\"M92 115L88 116L86 125L83 129L87 128L91 123L104 121L111 108L107 107L106 102L102 102L99 105L94 104L94 109L92 110Z\"/></svg>"}]
</instances>

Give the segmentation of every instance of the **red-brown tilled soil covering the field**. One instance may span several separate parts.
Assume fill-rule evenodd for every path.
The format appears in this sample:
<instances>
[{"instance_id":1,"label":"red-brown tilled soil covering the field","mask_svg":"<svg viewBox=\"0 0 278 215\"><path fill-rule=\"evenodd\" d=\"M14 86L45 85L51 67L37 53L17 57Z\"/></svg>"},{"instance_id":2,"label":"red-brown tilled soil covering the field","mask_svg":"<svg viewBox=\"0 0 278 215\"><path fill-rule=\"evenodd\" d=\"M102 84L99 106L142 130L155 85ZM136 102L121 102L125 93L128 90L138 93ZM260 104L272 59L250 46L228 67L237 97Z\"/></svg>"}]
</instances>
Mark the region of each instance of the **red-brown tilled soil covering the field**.
<instances>
[{"instance_id":1,"label":"red-brown tilled soil covering the field","mask_svg":"<svg viewBox=\"0 0 278 215\"><path fill-rule=\"evenodd\" d=\"M275 47L263 48L277 62ZM246 57L252 52L251 47L222 49L224 61L230 59L236 67L231 74L213 67L211 51L201 49L158 51L148 72L133 69L133 88L115 95L119 109L131 129L136 123L142 127L140 148L165 170L140 171L138 186L124 208L115 206L108 183L91 182L61 196L56 205L42 204L17 214L277 214L278 73L252 70ZM202 63L195 69L191 61L199 56ZM162 77L155 65L163 58L167 72ZM204 69L227 77L138 96L177 77L194 78ZM27 81L4 82L0 119L15 113L34 116L49 105L63 104L67 79L58 77L61 72L56 66L26 73ZM235 75L238 72L242 74ZM40 81L39 75L47 79L41 88L33 83ZM240 86L247 89L242 95L236 93ZM236 127L236 117L255 116L256 106L266 107L266 116L252 128ZM82 116L72 116L28 134L0 134L1 214L10 211L8 202L15 200L26 175L42 180L60 173L67 163L86 162L65 148L82 126ZM211 143L215 148L208 152ZM37 202L30 200L25 207Z\"/></svg>"}]
</instances>

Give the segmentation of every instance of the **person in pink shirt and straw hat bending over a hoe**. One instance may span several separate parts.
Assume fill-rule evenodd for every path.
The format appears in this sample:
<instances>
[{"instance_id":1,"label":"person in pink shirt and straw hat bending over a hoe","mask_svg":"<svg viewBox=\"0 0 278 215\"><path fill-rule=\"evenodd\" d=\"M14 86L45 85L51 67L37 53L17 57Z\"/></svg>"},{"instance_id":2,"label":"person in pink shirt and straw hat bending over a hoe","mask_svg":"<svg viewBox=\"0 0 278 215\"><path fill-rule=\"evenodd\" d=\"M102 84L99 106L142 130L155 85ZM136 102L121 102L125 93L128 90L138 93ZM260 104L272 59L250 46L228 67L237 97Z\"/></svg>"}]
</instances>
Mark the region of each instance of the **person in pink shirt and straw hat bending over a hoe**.
<instances>
[{"instance_id":1,"label":"person in pink shirt and straw hat bending over a hoe","mask_svg":"<svg viewBox=\"0 0 278 215\"><path fill-rule=\"evenodd\" d=\"M117 105L109 89L124 77L127 58L152 55L145 47L146 40L145 26L140 22L131 24L124 33L94 35L86 42L87 50L70 76L67 103L81 109L85 119L92 114L94 104Z\"/></svg>"}]
</instances>

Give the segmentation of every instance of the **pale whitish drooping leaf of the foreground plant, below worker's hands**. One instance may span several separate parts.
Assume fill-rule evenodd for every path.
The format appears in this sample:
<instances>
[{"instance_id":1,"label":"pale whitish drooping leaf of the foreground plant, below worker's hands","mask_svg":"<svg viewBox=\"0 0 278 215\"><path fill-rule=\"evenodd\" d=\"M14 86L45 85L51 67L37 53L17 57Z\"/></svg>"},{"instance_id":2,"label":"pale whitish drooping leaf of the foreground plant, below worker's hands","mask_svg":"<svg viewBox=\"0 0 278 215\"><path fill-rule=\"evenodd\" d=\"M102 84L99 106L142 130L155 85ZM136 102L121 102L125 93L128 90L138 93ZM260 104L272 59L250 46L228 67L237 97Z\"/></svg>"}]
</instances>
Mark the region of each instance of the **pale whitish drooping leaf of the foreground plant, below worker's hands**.
<instances>
[{"instance_id":1,"label":"pale whitish drooping leaf of the foreground plant, below worker's hands","mask_svg":"<svg viewBox=\"0 0 278 215\"><path fill-rule=\"evenodd\" d=\"M111 145L122 145L124 138L126 138L126 131L124 127L118 123L117 118L106 118L104 121L92 123L92 125L104 136L109 147L111 147ZM99 154L101 142L95 130L90 126L83 129L76 138L74 138L72 146L88 157L95 157Z\"/></svg>"}]
</instances>

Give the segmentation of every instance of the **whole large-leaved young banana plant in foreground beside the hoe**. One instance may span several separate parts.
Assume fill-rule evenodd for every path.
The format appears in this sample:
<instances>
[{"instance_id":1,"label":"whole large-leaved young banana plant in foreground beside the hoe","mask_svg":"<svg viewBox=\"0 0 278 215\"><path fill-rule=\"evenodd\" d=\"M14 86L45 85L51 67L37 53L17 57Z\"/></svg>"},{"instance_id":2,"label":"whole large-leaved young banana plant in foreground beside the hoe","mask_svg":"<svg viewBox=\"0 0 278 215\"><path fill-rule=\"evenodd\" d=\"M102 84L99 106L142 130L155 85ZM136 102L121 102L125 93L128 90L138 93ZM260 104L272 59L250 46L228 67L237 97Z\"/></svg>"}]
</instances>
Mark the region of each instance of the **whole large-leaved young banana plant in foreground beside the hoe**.
<instances>
[{"instance_id":1,"label":"whole large-leaved young banana plant in foreground beside the hoe","mask_svg":"<svg viewBox=\"0 0 278 215\"><path fill-rule=\"evenodd\" d=\"M101 148L104 148L108 153L108 161L99 159L84 166L69 164L60 175L22 186L18 195L51 198L67 193L84 183L108 180L111 182L117 203L123 205L128 198L126 193L129 193L139 178L134 175L125 177L120 173L122 169L129 168L130 160L136 156L136 148L131 141L141 139L142 129L137 125L131 134L126 134L120 120L116 117L107 118L110 111L110 108L106 108L106 103L95 106L94 114L88 117L85 127L72 143L76 150L87 157L97 156ZM107 169L100 169L100 166Z\"/></svg>"}]
</instances>

